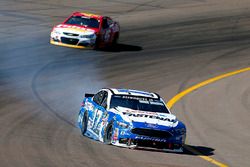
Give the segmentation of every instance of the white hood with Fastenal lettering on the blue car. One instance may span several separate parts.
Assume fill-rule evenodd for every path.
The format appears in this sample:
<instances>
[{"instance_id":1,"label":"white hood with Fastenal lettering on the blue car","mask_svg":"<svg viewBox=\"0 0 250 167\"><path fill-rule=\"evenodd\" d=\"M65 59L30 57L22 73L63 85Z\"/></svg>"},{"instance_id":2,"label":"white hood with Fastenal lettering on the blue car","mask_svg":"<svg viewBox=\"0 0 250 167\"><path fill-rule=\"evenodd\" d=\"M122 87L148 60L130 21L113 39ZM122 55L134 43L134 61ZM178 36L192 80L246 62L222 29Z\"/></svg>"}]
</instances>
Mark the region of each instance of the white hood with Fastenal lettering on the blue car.
<instances>
[{"instance_id":1,"label":"white hood with Fastenal lettering on the blue car","mask_svg":"<svg viewBox=\"0 0 250 167\"><path fill-rule=\"evenodd\" d=\"M176 116L168 113L131 110L124 107L116 107L115 110L118 111L117 114L124 121L132 122L133 124L144 123L149 126L151 125L152 128L155 125L175 127L178 124Z\"/></svg>"}]
</instances>

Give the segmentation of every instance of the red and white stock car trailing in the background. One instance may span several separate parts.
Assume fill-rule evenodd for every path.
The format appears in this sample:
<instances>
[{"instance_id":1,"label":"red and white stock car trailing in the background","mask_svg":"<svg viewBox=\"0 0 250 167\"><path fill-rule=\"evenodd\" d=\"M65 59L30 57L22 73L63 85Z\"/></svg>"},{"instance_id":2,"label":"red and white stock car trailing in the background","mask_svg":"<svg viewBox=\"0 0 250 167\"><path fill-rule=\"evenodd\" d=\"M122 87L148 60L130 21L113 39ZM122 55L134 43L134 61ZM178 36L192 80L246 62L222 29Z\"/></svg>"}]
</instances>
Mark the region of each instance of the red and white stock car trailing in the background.
<instances>
[{"instance_id":1,"label":"red and white stock car trailing in the background","mask_svg":"<svg viewBox=\"0 0 250 167\"><path fill-rule=\"evenodd\" d=\"M107 16L74 12L53 27L50 43L73 48L103 48L116 45L119 23Z\"/></svg>"}]
</instances>

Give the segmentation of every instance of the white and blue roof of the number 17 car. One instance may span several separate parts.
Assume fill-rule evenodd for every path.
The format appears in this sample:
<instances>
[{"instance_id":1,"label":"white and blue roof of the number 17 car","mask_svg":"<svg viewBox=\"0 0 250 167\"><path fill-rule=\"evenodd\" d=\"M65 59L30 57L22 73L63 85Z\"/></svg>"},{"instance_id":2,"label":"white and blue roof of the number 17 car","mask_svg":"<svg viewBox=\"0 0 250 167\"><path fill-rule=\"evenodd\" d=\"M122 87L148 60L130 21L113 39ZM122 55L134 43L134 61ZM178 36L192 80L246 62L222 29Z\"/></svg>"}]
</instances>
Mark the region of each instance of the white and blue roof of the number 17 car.
<instances>
[{"instance_id":1,"label":"white and blue roof of the number 17 car","mask_svg":"<svg viewBox=\"0 0 250 167\"><path fill-rule=\"evenodd\" d=\"M140 90L133 90L133 89L114 89L110 88L109 90L112 91L113 94L116 95L132 95L132 96L142 96L142 97L149 97L149 98L155 98L158 99L159 95L156 93L150 93Z\"/></svg>"}]
</instances>

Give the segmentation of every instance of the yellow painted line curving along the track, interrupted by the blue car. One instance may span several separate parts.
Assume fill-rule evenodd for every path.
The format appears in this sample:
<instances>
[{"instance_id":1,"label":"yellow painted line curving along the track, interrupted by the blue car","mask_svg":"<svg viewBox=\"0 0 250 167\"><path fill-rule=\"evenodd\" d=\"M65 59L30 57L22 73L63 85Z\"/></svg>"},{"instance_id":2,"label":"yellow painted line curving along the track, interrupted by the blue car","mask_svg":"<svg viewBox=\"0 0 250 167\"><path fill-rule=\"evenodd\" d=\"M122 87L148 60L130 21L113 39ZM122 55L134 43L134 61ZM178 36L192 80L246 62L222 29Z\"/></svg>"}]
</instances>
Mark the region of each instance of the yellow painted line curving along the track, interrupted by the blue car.
<instances>
[{"instance_id":1,"label":"yellow painted line curving along the track, interrupted by the blue car","mask_svg":"<svg viewBox=\"0 0 250 167\"><path fill-rule=\"evenodd\" d=\"M178 101L181 100L181 98L183 98L184 96L186 96L187 94L193 92L194 90L196 89L199 89L203 86L206 86L208 84L211 84L215 81L218 81L218 80L221 80L221 79L224 79L224 78L227 78L227 77L230 77L230 76L233 76L233 75L236 75L236 74L239 74L239 73L242 73L242 72L246 72L246 71L250 71L250 67L247 67L247 68L243 68L243 69L240 69L240 70L237 70L237 71L232 71L232 72L229 72L229 73L225 73L225 74L222 74L222 75L219 75L219 76L216 76L216 77L213 77L213 78L210 78L208 80L205 80L203 82L200 82L196 85L193 85L191 86L190 88L178 93L177 95L175 95L172 99L170 99L167 103L167 106L168 108L172 108L174 106L175 103L177 103ZM210 158L208 156L205 156L205 155L202 155L199 151L189 147L189 146L185 146L185 148L192 152L193 154L196 154L196 155L199 155L200 158L216 165L216 166L219 166L219 167L228 167L227 165L223 164L223 163L220 163L216 160L214 160L213 158Z\"/></svg>"}]
</instances>

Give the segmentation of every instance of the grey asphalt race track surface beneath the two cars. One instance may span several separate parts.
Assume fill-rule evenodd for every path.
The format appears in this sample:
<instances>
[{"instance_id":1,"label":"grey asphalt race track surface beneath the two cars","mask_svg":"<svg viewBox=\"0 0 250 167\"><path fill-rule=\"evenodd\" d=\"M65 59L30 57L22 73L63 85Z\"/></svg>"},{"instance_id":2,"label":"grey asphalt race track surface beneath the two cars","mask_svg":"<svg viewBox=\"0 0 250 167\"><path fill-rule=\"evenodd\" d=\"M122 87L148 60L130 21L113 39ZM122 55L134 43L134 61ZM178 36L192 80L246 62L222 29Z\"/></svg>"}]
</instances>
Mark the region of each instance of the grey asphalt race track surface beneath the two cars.
<instances>
[{"instance_id":1,"label":"grey asphalt race track surface beneath the two cars","mask_svg":"<svg viewBox=\"0 0 250 167\"><path fill-rule=\"evenodd\" d=\"M1 167L250 165L250 72L200 88L172 108L190 151L130 150L81 136L85 92L154 91L166 101L203 80L250 66L249 0L1 0ZM120 22L119 46L92 51L49 44L73 11Z\"/></svg>"}]
</instances>

